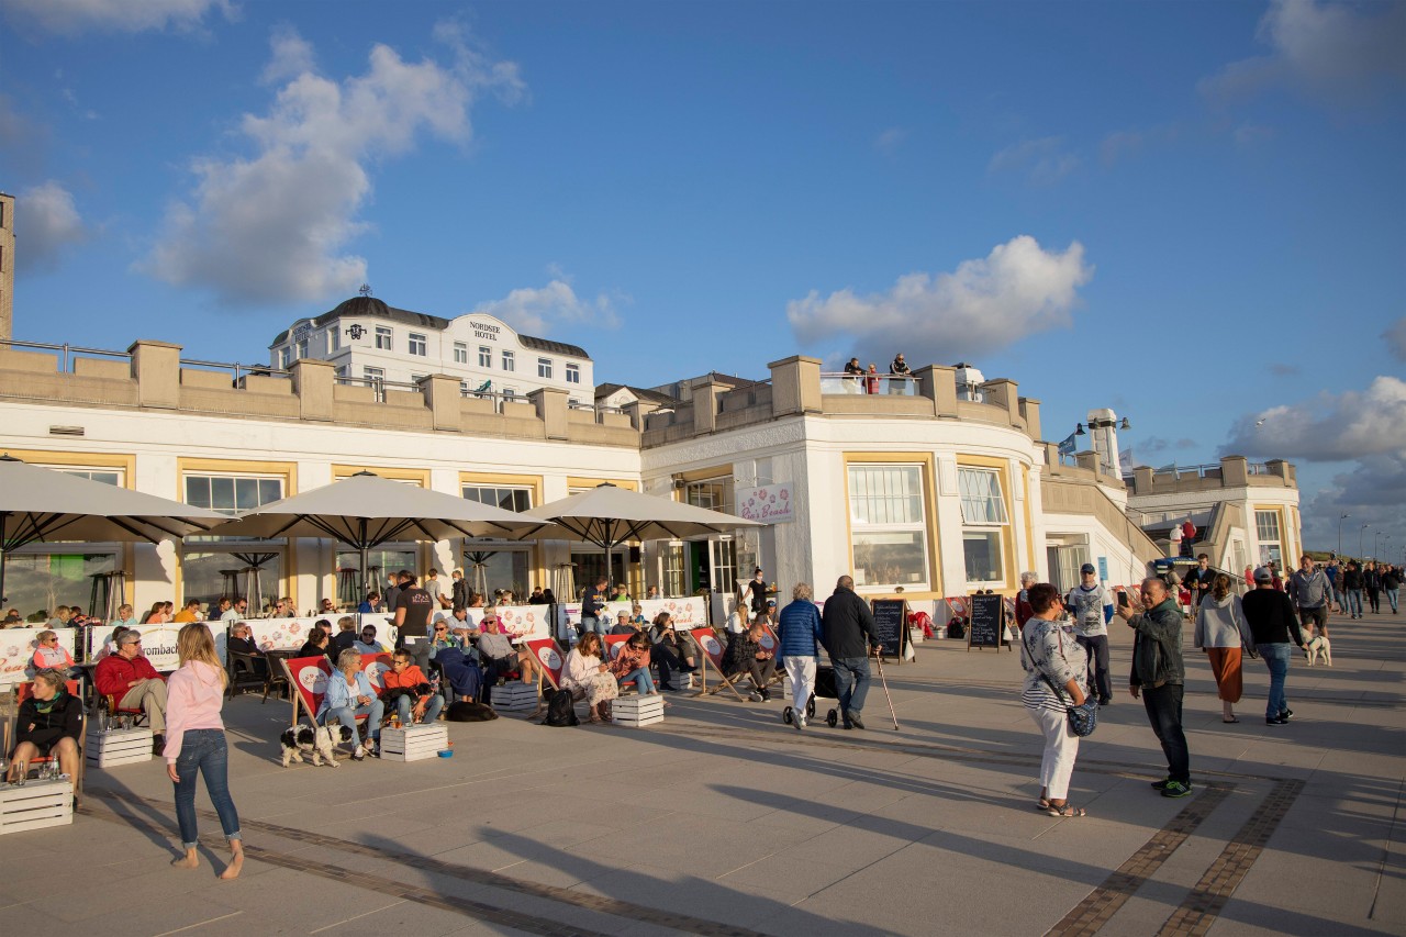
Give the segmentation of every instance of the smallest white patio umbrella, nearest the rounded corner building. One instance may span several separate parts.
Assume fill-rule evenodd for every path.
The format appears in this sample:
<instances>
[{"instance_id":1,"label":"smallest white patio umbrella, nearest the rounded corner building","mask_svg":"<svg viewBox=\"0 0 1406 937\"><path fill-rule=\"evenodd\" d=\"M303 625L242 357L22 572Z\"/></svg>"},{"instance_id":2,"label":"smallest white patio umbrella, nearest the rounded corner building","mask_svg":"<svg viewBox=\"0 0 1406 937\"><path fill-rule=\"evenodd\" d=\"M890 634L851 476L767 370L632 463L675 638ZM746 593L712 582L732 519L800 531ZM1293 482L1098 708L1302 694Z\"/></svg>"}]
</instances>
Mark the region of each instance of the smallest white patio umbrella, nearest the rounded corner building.
<instances>
[{"instance_id":1,"label":"smallest white patio umbrella, nearest the rounded corner building","mask_svg":"<svg viewBox=\"0 0 1406 937\"><path fill-rule=\"evenodd\" d=\"M599 546L606 552L607 568L612 552L628 540L681 540L765 526L758 521L617 488L609 483L540 508L529 508L520 516L555 523L560 529L547 535L550 537ZM571 536L562 537L562 532Z\"/></svg>"}]
</instances>

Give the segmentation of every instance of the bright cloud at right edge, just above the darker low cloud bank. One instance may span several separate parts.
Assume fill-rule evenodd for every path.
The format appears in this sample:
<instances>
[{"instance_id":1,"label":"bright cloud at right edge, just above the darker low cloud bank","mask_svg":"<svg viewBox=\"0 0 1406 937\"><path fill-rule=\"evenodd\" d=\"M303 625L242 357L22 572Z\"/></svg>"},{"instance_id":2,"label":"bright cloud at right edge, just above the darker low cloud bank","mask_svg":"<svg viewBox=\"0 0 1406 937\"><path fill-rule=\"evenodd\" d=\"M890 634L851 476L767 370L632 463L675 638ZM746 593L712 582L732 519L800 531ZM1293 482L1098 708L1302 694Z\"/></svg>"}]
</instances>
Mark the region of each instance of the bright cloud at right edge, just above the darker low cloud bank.
<instances>
[{"instance_id":1,"label":"bright cloud at right edge, just above the darker low cloud bank","mask_svg":"<svg viewBox=\"0 0 1406 937\"><path fill-rule=\"evenodd\" d=\"M1406 452L1406 381L1376 377L1365 391L1323 393L1301 404L1241 416L1226 453L1344 461Z\"/></svg>"}]
</instances>

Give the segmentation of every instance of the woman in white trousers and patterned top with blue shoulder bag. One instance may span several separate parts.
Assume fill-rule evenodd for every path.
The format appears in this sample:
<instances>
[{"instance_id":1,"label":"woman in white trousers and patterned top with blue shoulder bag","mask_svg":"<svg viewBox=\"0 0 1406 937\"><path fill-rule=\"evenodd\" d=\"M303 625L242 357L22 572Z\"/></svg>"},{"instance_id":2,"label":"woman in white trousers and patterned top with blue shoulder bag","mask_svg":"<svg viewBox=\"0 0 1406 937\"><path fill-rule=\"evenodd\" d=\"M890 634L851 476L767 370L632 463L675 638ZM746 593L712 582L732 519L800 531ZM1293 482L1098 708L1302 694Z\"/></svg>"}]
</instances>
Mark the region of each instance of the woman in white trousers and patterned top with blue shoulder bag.
<instances>
[{"instance_id":1,"label":"woman in white trousers and patterned top with blue shoulder bag","mask_svg":"<svg viewBox=\"0 0 1406 937\"><path fill-rule=\"evenodd\" d=\"M1029 589L1029 602L1035 615L1021 629L1021 667L1025 668L1021 702L1045 736L1036 809L1050 816L1084 816L1083 808L1069 803L1069 779L1078 757L1078 736L1069 730L1066 709L1084 705L1088 654L1060 625L1064 602L1059 589L1049 582L1038 582ZM1060 692L1056 694L1050 684Z\"/></svg>"}]
</instances>

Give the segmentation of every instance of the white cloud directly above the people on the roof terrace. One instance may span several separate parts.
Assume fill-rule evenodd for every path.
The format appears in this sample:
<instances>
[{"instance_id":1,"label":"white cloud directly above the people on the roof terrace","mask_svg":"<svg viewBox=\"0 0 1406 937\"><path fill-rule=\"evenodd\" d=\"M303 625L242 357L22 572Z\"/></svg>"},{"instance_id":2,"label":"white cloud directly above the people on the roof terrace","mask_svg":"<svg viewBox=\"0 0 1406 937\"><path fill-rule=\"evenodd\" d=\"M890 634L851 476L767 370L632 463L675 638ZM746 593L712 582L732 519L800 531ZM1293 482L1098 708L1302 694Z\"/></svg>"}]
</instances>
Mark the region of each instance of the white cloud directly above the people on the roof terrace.
<instances>
[{"instance_id":1,"label":"white cloud directly above the people on the roof terrace","mask_svg":"<svg viewBox=\"0 0 1406 937\"><path fill-rule=\"evenodd\" d=\"M903 348L911 362L955 362L1067 326L1078 287L1092 276L1078 242L1053 252L1019 235L952 273L901 276L884 293L823 298L813 290L786 304L786 318L803 345L845 335L865 360Z\"/></svg>"}]
</instances>

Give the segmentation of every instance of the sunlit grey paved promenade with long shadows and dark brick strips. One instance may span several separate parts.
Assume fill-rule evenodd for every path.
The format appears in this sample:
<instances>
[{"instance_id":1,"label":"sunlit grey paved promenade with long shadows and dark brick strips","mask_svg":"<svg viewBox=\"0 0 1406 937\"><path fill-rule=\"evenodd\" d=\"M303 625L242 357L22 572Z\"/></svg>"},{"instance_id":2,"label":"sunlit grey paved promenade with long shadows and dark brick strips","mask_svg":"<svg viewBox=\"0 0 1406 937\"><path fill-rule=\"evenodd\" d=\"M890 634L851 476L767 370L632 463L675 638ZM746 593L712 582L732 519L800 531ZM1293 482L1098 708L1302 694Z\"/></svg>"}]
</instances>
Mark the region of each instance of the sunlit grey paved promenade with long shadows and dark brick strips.
<instances>
[{"instance_id":1,"label":"sunlit grey paved promenade with long shadows and dark brick strips","mask_svg":"<svg viewBox=\"0 0 1406 937\"><path fill-rule=\"evenodd\" d=\"M1295 657L1295 720L1240 725L1187 654L1195 795L1163 799L1126 691L1085 740L1084 819L1033 809L1040 743L1012 653L928 642L886 665L866 732L785 726L782 702L671 695L662 725L450 725L451 760L278 764L290 706L225 708L249 860L204 789L201 868L174 853L163 763L91 770L70 827L0 840L6 933L1400 934L1402 619L1334 619L1333 667ZM1187 646L1191 627L1187 626ZM1114 673L1129 644L1114 630ZM827 701L817 701L821 706Z\"/></svg>"}]
</instances>

